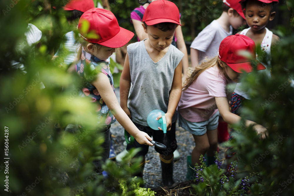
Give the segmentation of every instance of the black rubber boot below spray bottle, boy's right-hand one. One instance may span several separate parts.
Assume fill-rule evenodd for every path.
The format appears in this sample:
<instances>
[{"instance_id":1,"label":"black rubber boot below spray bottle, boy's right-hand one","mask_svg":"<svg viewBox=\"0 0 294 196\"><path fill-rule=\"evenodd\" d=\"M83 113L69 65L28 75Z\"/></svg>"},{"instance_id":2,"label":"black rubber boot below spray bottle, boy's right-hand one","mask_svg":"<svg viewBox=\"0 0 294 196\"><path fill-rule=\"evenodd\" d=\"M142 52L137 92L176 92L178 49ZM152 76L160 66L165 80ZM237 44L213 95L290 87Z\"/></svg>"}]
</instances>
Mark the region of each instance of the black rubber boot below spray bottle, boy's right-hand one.
<instances>
[{"instance_id":1,"label":"black rubber boot below spray bottle, boy's right-hand one","mask_svg":"<svg viewBox=\"0 0 294 196\"><path fill-rule=\"evenodd\" d=\"M171 160L165 160L160 156L160 163L162 184L163 186L170 187L175 183L173 181L173 158L171 158Z\"/></svg>"}]
</instances>

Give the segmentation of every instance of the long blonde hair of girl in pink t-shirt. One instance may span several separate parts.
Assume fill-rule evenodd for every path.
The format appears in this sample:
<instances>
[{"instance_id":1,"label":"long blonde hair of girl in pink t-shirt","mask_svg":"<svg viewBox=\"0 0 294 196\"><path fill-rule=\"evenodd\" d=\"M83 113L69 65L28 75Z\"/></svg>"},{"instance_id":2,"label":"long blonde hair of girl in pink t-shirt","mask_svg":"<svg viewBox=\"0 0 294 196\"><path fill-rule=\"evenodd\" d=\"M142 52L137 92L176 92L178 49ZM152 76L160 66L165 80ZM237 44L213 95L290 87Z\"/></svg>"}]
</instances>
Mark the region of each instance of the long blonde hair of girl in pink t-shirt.
<instances>
[{"instance_id":1,"label":"long blonde hair of girl in pink t-shirt","mask_svg":"<svg viewBox=\"0 0 294 196\"><path fill-rule=\"evenodd\" d=\"M218 69L220 70L221 74L225 74L225 68L220 66L220 62L223 62L221 61L218 56L215 56L211 59L208 59L208 57L206 57L205 59L206 61L203 61L201 63L200 66L196 66L195 68L188 68L188 78L185 80L185 82L183 83L183 91L187 90L187 88L193 83L196 81L196 79L198 78L198 76L203 72L205 71L206 69L208 68L211 68L213 66L217 66ZM223 62L225 66L226 63Z\"/></svg>"}]
</instances>

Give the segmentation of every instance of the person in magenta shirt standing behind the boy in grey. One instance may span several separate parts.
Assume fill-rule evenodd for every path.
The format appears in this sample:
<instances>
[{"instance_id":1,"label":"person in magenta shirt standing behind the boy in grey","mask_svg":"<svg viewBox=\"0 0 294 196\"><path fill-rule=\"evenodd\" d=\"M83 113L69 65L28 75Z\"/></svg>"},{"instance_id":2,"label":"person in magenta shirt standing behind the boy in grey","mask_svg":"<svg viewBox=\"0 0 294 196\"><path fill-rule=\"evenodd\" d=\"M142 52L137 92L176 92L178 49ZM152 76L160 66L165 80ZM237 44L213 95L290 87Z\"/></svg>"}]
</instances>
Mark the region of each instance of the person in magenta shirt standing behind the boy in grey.
<instances>
[{"instance_id":1,"label":"person in magenta shirt standing behind the boy in grey","mask_svg":"<svg viewBox=\"0 0 294 196\"><path fill-rule=\"evenodd\" d=\"M151 0L152 1L157 1L157 0ZM146 3L143 4L143 6L140 6L138 8L135 8L131 12L131 22L134 25L138 41L142 41L143 39L148 38L148 35L145 33L143 26L142 26L142 19L143 15L145 13L145 10L147 6L150 4L150 1L145 1ZM180 15L181 17L181 15ZM184 36L182 33L182 27L179 25L176 28L175 36L173 37L173 41L171 43L172 45L176 46L183 54L183 79L186 78L187 76L187 69L189 67L189 60L188 60L188 52L184 40ZM177 152L178 154L178 152Z\"/></svg>"}]
</instances>

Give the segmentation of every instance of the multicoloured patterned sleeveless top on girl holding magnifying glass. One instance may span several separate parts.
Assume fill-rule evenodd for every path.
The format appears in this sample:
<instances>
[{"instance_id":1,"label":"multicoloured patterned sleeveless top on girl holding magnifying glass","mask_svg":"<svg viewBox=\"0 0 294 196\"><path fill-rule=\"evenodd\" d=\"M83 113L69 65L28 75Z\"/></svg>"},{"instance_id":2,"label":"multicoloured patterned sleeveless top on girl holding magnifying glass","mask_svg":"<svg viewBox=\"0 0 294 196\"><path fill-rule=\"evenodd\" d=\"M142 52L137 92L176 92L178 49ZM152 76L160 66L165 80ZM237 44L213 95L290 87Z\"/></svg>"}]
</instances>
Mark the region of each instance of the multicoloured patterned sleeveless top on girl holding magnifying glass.
<instances>
[{"instance_id":1,"label":"multicoloured patterned sleeveless top on girl holding magnifying glass","mask_svg":"<svg viewBox=\"0 0 294 196\"><path fill-rule=\"evenodd\" d=\"M106 126L111 125L116 121L116 118L113 116L103 99L101 98L98 90L95 88L95 86L92 86L91 83L89 83L89 79L91 78L91 75L88 73L85 73L86 70L89 68L90 71L97 71L104 73L110 82L110 85L114 91L113 86L113 77L109 70L109 62L108 61L101 61L97 57L91 55L90 53L87 53L85 49L82 50L81 60L76 62L76 72L81 77L82 80L82 86L81 89L81 96L82 97L91 97L91 102L96 105L96 115L97 115L97 123L99 126ZM80 125L81 128L83 128L82 125Z\"/></svg>"}]
</instances>

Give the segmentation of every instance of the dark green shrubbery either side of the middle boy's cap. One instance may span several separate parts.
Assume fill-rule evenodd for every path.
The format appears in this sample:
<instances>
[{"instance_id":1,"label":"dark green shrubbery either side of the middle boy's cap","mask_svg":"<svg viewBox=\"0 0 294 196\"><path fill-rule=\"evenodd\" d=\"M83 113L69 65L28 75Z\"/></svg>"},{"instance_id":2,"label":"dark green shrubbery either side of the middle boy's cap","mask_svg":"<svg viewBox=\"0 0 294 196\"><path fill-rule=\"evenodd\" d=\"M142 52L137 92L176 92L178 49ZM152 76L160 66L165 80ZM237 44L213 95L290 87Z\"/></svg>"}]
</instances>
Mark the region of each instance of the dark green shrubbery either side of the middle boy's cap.
<instances>
[{"instance_id":1,"label":"dark green shrubbery either side of the middle boy's cap","mask_svg":"<svg viewBox=\"0 0 294 196\"><path fill-rule=\"evenodd\" d=\"M181 13L182 31L185 41L193 41L193 38L204 29L205 26L217 19L222 13L220 0L177 0L173 1ZM109 0L111 11L118 18L118 23L135 33L130 22L130 13L140 4L136 0ZM134 37L131 41L137 41Z\"/></svg>"}]
</instances>

